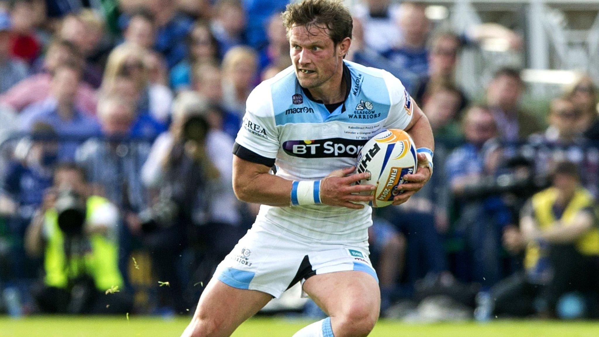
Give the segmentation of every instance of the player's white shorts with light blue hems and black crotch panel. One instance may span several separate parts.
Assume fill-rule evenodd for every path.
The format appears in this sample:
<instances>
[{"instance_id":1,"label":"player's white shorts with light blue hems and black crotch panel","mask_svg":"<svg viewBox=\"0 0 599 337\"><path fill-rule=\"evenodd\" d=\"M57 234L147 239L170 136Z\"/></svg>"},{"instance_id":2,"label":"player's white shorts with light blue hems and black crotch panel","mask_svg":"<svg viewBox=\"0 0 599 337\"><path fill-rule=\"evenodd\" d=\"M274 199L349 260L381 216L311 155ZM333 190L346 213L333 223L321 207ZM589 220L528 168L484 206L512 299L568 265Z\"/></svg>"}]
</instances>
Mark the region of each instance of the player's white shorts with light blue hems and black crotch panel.
<instances>
[{"instance_id":1,"label":"player's white shorts with light blue hems and black crotch panel","mask_svg":"<svg viewBox=\"0 0 599 337\"><path fill-rule=\"evenodd\" d=\"M234 288L259 290L279 297L283 291L313 275L359 270L374 277L368 242L358 246L303 242L256 224L239 240L214 272Z\"/></svg>"}]
</instances>

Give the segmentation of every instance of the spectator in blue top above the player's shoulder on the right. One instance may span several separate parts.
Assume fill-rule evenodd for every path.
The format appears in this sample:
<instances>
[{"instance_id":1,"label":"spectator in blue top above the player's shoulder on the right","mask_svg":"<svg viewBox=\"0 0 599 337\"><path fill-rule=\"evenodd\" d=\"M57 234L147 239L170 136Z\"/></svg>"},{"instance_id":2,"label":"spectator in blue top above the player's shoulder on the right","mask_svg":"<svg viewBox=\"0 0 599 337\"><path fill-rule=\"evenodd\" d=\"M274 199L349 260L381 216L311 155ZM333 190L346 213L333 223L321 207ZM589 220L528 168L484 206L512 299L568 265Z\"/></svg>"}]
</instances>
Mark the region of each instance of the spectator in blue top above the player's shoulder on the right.
<instances>
[{"instance_id":1,"label":"spectator in blue top above the player's shoulder on the right","mask_svg":"<svg viewBox=\"0 0 599 337\"><path fill-rule=\"evenodd\" d=\"M431 22L425 14L425 5L404 2L401 4L397 24L403 41L382 53L395 67L423 78L428 74L428 52L426 38L431 31ZM416 83L404 83L408 87Z\"/></svg>"}]
</instances>

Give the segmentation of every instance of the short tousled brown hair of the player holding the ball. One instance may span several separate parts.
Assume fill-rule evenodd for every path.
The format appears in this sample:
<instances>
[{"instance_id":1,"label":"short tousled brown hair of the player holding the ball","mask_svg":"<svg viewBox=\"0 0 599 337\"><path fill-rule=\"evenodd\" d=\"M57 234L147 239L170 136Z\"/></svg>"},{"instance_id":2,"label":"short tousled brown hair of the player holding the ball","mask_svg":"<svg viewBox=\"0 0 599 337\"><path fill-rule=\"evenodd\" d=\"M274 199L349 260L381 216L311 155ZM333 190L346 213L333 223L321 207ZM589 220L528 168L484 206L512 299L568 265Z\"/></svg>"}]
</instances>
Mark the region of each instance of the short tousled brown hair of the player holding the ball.
<instances>
[{"instance_id":1,"label":"short tousled brown hair of the player holding the ball","mask_svg":"<svg viewBox=\"0 0 599 337\"><path fill-rule=\"evenodd\" d=\"M344 38L352 38L352 14L341 0L304 0L292 2L283 12L283 25L289 30L293 26L316 26L328 29L334 44Z\"/></svg>"}]
</instances>

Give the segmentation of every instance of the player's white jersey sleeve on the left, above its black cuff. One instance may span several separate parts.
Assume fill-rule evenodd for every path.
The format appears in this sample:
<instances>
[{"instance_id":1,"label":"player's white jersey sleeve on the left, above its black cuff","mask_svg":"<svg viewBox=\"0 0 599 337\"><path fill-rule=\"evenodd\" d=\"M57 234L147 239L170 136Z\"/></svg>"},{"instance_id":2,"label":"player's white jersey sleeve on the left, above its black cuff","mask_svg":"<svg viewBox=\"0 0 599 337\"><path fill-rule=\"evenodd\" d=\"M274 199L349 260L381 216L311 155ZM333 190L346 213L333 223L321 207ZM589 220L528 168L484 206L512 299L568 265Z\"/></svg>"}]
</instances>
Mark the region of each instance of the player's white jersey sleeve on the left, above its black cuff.
<instances>
[{"instance_id":1,"label":"player's white jersey sleeve on the left, above its black cuff","mask_svg":"<svg viewBox=\"0 0 599 337\"><path fill-rule=\"evenodd\" d=\"M262 157L277 157L279 130L274 121L270 85L267 83L257 86L247 98L246 115L235 143Z\"/></svg>"}]
</instances>

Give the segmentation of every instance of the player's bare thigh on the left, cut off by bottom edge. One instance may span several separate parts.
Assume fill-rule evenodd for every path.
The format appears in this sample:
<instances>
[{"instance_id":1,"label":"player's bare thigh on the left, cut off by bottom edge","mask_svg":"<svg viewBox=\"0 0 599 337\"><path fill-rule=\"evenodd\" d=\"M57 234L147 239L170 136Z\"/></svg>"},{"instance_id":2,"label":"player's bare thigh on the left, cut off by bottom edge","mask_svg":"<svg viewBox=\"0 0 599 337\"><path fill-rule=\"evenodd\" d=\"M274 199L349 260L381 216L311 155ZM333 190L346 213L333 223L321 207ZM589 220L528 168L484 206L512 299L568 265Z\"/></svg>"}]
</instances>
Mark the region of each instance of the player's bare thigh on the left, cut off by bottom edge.
<instances>
[{"instance_id":1,"label":"player's bare thigh on the left, cut off by bottom edge","mask_svg":"<svg viewBox=\"0 0 599 337\"><path fill-rule=\"evenodd\" d=\"M230 336L272 298L262 291L234 288L212 278L181 337Z\"/></svg>"}]
</instances>

